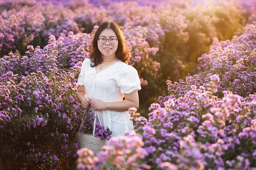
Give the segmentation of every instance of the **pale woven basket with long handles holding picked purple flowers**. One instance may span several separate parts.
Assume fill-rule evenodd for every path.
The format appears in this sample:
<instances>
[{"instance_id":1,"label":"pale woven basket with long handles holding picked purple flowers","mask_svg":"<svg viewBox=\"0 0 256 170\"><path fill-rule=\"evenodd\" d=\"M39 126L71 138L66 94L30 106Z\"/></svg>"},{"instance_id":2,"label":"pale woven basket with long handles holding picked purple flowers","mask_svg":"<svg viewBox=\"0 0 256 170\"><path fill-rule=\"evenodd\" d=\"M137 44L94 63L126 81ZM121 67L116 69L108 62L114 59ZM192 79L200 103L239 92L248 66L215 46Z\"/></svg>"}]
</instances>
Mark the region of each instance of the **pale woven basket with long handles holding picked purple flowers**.
<instances>
[{"instance_id":1,"label":"pale woven basket with long handles holding picked purple flowers","mask_svg":"<svg viewBox=\"0 0 256 170\"><path fill-rule=\"evenodd\" d=\"M99 113L96 111L92 135L81 133L80 130L79 130L79 132L75 133L76 142L78 143L78 148L79 149L88 148L88 149L92 150L94 155L97 155L97 153L101 150L101 147L106 145L108 142L108 139L101 140L99 137L94 136L97 117L99 118ZM101 124L101 122L100 122L100 124ZM81 122L81 126L82 125L83 125L83 119ZM81 129L81 126L80 126L80 129Z\"/></svg>"}]
</instances>

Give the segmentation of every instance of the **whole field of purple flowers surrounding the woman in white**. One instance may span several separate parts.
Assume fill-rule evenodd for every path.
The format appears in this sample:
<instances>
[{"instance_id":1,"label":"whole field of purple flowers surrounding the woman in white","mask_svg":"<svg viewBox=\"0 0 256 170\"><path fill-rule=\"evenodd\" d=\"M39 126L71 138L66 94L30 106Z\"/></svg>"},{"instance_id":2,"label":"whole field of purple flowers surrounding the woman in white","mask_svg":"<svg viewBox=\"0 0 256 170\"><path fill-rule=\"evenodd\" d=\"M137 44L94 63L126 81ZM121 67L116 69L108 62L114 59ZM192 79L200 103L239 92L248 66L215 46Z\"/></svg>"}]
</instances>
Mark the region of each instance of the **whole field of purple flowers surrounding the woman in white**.
<instances>
[{"instance_id":1,"label":"whole field of purple flowers surrounding the woman in white","mask_svg":"<svg viewBox=\"0 0 256 170\"><path fill-rule=\"evenodd\" d=\"M0 170L256 167L254 0L0 0ZM117 22L139 73L135 131L78 150L77 77Z\"/></svg>"}]
</instances>

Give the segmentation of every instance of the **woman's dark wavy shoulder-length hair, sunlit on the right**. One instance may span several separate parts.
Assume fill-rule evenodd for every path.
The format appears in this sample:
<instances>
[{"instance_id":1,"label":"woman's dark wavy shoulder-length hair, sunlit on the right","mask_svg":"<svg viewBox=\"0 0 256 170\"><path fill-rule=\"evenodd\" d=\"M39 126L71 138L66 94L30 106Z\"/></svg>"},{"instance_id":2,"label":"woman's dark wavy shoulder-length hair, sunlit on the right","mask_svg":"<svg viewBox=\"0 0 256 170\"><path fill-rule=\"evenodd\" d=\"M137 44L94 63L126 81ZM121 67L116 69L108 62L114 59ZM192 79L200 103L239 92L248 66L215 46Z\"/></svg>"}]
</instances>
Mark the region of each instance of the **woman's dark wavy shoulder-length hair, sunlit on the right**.
<instances>
[{"instance_id":1,"label":"woman's dark wavy shoulder-length hair, sunlit on the right","mask_svg":"<svg viewBox=\"0 0 256 170\"><path fill-rule=\"evenodd\" d=\"M124 35L121 32L116 22L114 22L113 20L108 20L100 24L99 28L97 29L94 35L92 44L90 45L89 56L90 56L90 60L92 61L91 67L97 66L98 64L101 64L103 62L101 57L101 52L98 49L97 41L100 33L105 29L112 29L117 35L118 46L117 46L116 56L119 60L128 64L128 62L130 61L130 50L124 45Z\"/></svg>"}]
</instances>

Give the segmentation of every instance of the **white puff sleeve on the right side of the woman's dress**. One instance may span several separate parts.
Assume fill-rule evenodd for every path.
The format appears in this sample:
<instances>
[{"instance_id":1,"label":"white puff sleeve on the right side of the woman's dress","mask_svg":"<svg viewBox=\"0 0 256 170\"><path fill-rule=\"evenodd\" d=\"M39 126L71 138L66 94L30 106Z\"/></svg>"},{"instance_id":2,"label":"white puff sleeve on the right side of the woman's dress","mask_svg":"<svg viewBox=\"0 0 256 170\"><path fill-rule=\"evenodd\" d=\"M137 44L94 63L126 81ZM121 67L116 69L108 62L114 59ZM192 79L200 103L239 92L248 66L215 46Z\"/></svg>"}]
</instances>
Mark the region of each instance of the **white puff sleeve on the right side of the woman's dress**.
<instances>
[{"instance_id":1,"label":"white puff sleeve on the right side of the woman's dress","mask_svg":"<svg viewBox=\"0 0 256 170\"><path fill-rule=\"evenodd\" d=\"M119 73L117 80L117 86L120 87L121 93L130 94L133 91L141 90L141 83L137 70L130 66L125 65L122 71Z\"/></svg>"}]
</instances>

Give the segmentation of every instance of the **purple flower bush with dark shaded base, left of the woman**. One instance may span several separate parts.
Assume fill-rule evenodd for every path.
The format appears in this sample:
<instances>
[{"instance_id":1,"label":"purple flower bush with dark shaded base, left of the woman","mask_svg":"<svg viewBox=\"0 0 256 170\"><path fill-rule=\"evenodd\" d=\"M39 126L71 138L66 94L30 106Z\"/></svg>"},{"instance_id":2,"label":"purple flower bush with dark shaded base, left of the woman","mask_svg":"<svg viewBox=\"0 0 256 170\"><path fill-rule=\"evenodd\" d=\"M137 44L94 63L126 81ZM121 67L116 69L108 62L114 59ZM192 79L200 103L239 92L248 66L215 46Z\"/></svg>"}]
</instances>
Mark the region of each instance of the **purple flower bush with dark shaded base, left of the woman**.
<instances>
[{"instance_id":1,"label":"purple flower bush with dark shaded base, left of the woman","mask_svg":"<svg viewBox=\"0 0 256 170\"><path fill-rule=\"evenodd\" d=\"M0 162L6 169L74 167L81 62L66 71L57 68L58 51L47 47L28 46L27 56L0 58Z\"/></svg>"}]
</instances>

